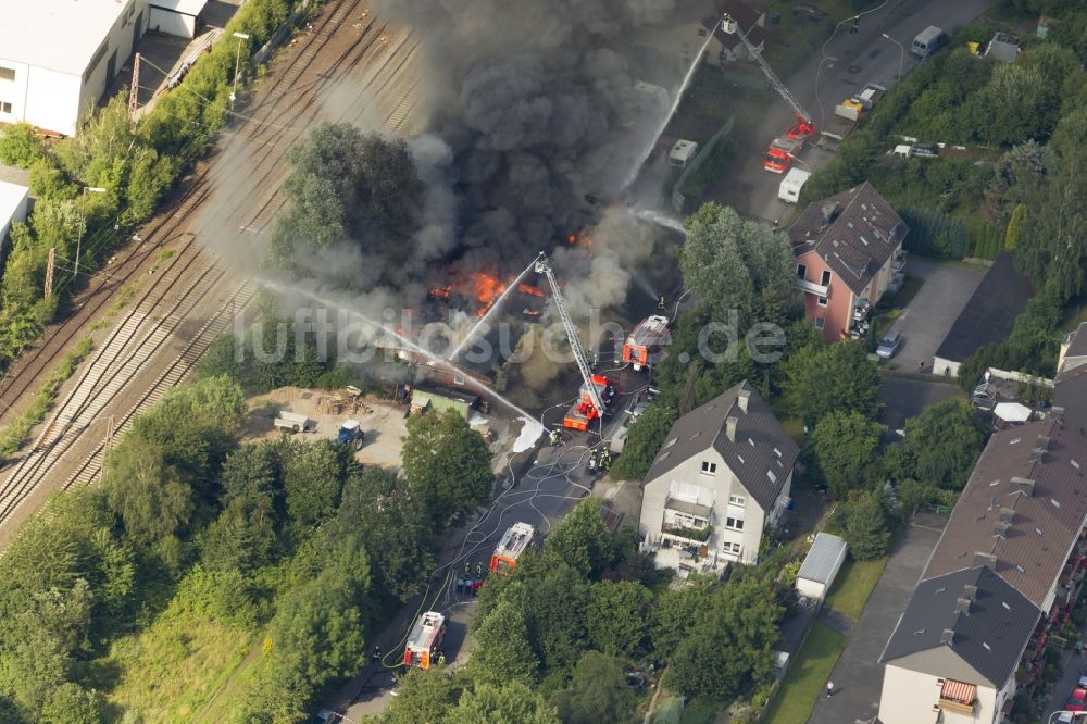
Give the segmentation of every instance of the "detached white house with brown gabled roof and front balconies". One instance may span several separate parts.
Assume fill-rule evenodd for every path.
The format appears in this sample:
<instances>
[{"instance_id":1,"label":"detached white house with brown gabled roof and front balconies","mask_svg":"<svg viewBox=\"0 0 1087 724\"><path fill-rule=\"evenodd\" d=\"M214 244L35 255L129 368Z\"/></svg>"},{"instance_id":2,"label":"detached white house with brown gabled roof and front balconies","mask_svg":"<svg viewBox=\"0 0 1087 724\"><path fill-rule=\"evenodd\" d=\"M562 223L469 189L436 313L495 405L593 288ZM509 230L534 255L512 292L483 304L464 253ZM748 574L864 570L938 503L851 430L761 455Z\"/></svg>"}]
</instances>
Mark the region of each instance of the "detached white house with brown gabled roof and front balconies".
<instances>
[{"instance_id":1,"label":"detached white house with brown gabled roof and front balconies","mask_svg":"<svg viewBox=\"0 0 1087 724\"><path fill-rule=\"evenodd\" d=\"M746 380L677 420L642 483L638 532L657 564L754 563L788 503L798 452Z\"/></svg>"}]
</instances>

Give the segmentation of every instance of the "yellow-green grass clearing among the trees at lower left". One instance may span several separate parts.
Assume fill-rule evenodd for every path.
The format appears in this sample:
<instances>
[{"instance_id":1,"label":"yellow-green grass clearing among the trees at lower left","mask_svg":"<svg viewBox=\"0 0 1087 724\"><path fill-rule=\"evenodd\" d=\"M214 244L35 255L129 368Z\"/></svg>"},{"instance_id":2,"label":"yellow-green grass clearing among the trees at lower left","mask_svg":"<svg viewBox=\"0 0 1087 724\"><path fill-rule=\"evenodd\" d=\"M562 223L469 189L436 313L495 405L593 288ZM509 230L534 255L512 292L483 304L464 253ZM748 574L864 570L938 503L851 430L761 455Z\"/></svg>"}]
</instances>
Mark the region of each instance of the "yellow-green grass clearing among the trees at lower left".
<instances>
[{"instance_id":1,"label":"yellow-green grass clearing among the trees at lower left","mask_svg":"<svg viewBox=\"0 0 1087 724\"><path fill-rule=\"evenodd\" d=\"M110 703L140 721L196 721L245 660L255 636L172 604L146 631L113 645L103 662L120 672Z\"/></svg>"}]
</instances>

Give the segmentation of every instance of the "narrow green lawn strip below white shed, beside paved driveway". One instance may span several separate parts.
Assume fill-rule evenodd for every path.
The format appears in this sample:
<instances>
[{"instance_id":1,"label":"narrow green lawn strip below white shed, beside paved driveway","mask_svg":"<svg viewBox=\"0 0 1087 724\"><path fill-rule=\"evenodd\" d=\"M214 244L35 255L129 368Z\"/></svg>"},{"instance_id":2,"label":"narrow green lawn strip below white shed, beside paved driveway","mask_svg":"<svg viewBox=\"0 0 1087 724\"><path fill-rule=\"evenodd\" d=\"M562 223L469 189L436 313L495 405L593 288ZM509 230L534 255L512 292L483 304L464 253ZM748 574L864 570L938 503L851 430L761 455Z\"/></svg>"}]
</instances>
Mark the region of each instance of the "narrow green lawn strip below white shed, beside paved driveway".
<instances>
[{"instance_id":1,"label":"narrow green lawn strip below white shed, beside paved driveway","mask_svg":"<svg viewBox=\"0 0 1087 724\"><path fill-rule=\"evenodd\" d=\"M845 636L816 621L766 710L764 724L803 724L808 721L845 648Z\"/></svg>"}]
</instances>

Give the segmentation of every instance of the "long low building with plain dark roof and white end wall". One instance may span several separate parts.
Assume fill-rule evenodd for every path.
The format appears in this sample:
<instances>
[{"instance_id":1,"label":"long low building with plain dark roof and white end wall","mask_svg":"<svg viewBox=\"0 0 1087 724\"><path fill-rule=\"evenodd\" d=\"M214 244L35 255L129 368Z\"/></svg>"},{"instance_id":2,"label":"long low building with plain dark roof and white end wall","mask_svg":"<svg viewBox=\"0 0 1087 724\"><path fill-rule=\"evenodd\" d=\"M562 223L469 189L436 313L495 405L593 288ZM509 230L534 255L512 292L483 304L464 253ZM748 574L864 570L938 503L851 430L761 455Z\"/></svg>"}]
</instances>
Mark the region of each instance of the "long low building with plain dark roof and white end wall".
<instances>
[{"instance_id":1,"label":"long low building with plain dark roof and white end wall","mask_svg":"<svg viewBox=\"0 0 1087 724\"><path fill-rule=\"evenodd\" d=\"M959 365L978 348L1007 337L1033 294L1034 287L1015 270L1011 254L997 254L936 350L933 372L954 377Z\"/></svg>"}]
</instances>

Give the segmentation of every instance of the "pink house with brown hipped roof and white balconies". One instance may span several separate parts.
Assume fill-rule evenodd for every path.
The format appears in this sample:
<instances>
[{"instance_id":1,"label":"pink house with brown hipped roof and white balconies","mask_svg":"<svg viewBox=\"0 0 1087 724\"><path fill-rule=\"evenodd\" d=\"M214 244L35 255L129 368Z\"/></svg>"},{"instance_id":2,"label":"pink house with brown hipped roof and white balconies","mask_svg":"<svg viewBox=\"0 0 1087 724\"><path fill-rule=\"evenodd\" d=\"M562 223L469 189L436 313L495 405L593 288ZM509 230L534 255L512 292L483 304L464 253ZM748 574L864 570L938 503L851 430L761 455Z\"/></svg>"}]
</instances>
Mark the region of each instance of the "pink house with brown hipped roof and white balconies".
<instances>
[{"instance_id":1,"label":"pink house with brown hipped roof and white balconies","mask_svg":"<svg viewBox=\"0 0 1087 724\"><path fill-rule=\"evenodd\" d=\"M837 341L866 324L887 290L910 228L864 182L808 204L789 228L804 316Z\"/></svg>"}]
</instances>

